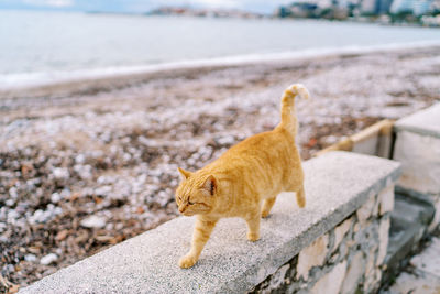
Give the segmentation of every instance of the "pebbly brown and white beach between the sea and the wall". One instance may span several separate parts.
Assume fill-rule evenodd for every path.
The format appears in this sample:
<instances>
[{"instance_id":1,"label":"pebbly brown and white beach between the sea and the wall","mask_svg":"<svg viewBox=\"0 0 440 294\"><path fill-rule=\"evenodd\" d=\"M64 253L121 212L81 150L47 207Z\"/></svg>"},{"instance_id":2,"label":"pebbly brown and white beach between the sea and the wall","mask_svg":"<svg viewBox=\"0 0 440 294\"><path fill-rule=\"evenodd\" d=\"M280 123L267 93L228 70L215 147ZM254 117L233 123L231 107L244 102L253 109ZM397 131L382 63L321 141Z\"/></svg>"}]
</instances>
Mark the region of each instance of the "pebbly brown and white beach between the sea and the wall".
<instances>
[{"instance_id":1,"label":"pebbly brown and white beach between the sea and the wall","mask_svg":"<svg viewBox=\"0 0 440 294\"><path fill-rule=\"evenodd\" d=\"M440 100L440 47L204 67L0 94L0 292L177 216L197 170L298 100L304 159ZM18 286L14 286L18 285Z\"/></svg>"}]
</instances>

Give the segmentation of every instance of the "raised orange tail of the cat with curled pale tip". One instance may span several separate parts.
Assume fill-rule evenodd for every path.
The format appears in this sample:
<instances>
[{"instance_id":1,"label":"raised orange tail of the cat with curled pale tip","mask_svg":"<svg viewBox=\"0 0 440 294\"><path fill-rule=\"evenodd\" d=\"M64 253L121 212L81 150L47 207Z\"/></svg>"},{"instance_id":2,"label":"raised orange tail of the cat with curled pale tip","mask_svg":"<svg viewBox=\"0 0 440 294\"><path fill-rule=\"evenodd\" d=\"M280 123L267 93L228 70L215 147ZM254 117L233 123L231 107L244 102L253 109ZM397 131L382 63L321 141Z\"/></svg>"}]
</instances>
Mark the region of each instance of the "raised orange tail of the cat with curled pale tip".
<instances>
[{"instance_id":1,"label":"raised orange tail of the cat with curled pale tip","mask_svg":"<svg viewBox=\"0 0 440 294\"><path fill-rule=\"evenodd\" d=\"M300 84L294 84L284 90L282 97L282 122L278 127L286 129L294 137L298 130L298 121L295 110L295 97L300 96L302 99L309 98L309 91Z\"/></svg>"}]
</instances>

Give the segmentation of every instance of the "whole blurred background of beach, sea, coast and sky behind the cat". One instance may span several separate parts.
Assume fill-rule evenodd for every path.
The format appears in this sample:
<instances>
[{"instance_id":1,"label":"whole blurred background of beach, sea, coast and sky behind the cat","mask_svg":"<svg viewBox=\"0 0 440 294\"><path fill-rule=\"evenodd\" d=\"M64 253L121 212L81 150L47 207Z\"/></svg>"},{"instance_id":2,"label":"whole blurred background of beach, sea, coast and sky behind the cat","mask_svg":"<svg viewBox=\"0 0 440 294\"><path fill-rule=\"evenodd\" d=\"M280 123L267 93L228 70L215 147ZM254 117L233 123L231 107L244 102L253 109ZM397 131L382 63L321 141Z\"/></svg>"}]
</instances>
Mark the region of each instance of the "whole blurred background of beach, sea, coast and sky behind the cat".
<instances>
[{"instance_id":1,"label":"whole blurred background of beach, sea, coast and sky behind the cat","mask_svg":"<svg viewBox=\"0 0 440 294\"><path fill-rule=\"evenodd\" d=\"M297 102L304 160L440 99L439 0L0 0L0 291L177 216Z\"/></svg>"}]
</instances>

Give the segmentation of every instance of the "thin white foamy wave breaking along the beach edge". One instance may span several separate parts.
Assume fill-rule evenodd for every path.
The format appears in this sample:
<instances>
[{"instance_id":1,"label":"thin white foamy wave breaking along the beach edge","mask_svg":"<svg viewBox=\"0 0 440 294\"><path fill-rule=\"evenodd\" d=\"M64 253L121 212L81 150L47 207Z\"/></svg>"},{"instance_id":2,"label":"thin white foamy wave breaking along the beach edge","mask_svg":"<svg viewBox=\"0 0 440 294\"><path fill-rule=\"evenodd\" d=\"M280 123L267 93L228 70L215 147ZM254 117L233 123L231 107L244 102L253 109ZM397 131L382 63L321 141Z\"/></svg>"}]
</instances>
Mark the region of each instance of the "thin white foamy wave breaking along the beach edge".
<instances>
[{"instance_id":1,"label":"thin white foamy wave breaking along the beach edge","mask_svg":"<svg viewBox=\"0 0 440 294\"><path fill-rule=\"evenodd\" d=\"M370 46L344 46L327 48L307 48L292 52L246 54L205 59L188 59L172 63L147 64L139 66L106 67L78 70L33 72L16 74L0 74L0 89L19 89L38 86L52 86L63 83L114 78L120 76L148 74L163 70L212 67L239 66L255 63L283 62L301 58L324 57L331 55L364 54L377 51L410 50L426 46L438 46L440 41L424 41L414 43L389 43Z\"/></svg>"}]
</instances>

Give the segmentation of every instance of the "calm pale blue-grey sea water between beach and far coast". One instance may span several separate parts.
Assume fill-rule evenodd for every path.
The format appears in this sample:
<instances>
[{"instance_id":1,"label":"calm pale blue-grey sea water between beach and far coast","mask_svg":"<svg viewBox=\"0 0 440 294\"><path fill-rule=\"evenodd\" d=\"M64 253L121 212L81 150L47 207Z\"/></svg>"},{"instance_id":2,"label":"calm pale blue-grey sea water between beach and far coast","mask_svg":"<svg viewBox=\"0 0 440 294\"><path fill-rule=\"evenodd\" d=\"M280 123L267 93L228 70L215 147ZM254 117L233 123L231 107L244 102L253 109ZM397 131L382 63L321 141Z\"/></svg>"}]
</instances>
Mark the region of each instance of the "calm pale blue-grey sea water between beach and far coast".
<instances>
[{"instance_id":1,"label":"calm pale blue-grey sea water between beach and far coast","mask_svg":"<svg viewBox=\"0 0 440 294\"><path fill-rule=\"evenodd\" d=\"M439 43L439 29L353 22L0 10L0 89Z\"/></svg>"}]
</instances>

